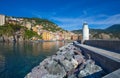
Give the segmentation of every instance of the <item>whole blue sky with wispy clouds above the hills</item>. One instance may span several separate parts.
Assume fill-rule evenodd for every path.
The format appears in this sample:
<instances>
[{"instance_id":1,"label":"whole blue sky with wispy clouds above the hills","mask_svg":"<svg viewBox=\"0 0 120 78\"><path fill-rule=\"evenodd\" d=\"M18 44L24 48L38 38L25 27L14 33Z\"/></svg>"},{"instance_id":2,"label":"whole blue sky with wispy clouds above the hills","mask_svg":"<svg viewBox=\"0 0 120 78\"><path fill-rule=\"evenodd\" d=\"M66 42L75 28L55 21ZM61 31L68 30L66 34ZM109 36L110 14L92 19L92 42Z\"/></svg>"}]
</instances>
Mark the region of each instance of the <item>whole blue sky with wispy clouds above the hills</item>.
<instances>
[{"instance_id":1,"label":"whole blue sky with wispy clouds above the hills","mask_svg":"<svg viewBox=\"0 0 120 78\"><path fill-rule=\"evenodd\" d=\"M66 30L105 29L120 24L120 0L0 0L0 14L38 17Z\"/></svg>"}]
</instances>

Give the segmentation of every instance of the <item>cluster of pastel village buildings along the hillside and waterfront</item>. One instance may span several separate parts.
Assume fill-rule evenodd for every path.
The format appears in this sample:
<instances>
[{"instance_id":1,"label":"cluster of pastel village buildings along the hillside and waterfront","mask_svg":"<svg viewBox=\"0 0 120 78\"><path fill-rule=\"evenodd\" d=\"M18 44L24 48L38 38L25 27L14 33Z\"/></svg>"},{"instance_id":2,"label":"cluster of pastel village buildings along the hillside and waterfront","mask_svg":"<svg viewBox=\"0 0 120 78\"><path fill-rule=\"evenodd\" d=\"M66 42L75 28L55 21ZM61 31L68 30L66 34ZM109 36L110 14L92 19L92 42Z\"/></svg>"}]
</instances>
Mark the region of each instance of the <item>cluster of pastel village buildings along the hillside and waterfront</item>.
<instances>
[{"instance_id":1,"label":"cluster of pastel village buildings along the hillside and waterfront","mask_svg":"<svg viewBox=\"0 0 120 78\"><path fill-rule=\"evenodd\" d=\"M36 24L35 20L27 18L17 18L10 17L5 15L0 15L0 25L4 24L18 24L20 26L26 27L28 30L36 32L39 36L42 37L44 41L56 41L56 40L77 40L78 35L69 32L69 31L50 31L51 29L45 30L43 27L49 27L49 24ZM60 27L56 27L60 28ZM33 40L38 40L36 37L32 38Z\"/></svg>"}]
</instances>

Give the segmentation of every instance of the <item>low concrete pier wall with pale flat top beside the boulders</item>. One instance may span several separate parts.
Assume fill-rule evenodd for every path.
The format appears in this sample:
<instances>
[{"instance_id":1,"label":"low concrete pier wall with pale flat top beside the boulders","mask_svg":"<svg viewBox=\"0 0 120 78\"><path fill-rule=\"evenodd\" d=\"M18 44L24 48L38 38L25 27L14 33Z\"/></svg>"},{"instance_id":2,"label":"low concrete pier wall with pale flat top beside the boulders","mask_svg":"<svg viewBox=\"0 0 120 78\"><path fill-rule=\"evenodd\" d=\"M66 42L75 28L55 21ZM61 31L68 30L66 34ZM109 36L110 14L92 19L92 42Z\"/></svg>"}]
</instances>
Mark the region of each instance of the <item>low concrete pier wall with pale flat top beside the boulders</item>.
<instances>
[{"instance_id":1,"label":"low concrete pier wall with pale flat top beside the boulders","mask_svg":"<svg viewBox=\"0 0 120 78\"><path fill-rule=\"evenodd\" d=\"M120 77L120 54L112 51L103 50L100 48L79 44L78 42L74 42L74 45L79 47L82 50L83 55L91 59L93 59L98 65L100 65L105 72L108 73L108 76L105 78L109 78L109 75L114 74L115 78ZM115 74L116 73L116 74ZM111 77L114 78L114 77Z\"/></svg>"}]
</instances>

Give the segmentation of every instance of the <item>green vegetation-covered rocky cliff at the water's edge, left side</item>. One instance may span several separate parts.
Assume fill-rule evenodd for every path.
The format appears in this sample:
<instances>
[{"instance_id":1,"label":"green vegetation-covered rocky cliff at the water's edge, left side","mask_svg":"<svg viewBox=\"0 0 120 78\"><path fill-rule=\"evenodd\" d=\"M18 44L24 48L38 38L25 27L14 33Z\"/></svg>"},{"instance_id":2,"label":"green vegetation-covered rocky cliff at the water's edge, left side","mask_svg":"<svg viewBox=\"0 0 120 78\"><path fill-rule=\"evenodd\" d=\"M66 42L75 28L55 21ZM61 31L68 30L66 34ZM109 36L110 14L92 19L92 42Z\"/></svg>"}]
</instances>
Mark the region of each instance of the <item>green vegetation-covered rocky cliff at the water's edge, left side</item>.
<instances>
[{"instance_id":1,"label":"green vegetation-covered rocky cliff at the water's edge, left side","mask_svg":"<svg viewBox=\"0 0 120 78\"><path fill-rule=\"evenodd\" d=\"M39 39L42 38L36 32L32 30L28 30L24 26L13 25L13 24L7 24L4 26L0 26L0 37L4 37L4 36L6 36L7 38L11 36L22 37L23 38L22 40L30 40L33 37L37 37Z\"/></svg>"}]
</instances>

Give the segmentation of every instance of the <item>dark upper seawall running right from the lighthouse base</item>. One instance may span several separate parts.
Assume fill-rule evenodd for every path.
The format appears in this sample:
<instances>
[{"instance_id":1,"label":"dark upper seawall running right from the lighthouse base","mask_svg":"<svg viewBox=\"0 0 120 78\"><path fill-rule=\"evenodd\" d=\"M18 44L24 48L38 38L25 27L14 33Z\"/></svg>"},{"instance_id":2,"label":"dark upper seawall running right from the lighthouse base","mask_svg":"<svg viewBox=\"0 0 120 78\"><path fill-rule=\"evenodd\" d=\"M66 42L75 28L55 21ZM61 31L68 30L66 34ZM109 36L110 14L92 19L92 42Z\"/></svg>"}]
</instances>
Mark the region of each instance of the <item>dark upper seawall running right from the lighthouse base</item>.
<instances>
[{"instance_id":1,"label":"dark upper seawall running right from the lighthouse base","mask_svg":"<svg viewBox=\"0 0 120 78\"><path fill-rule=\"evenodd\" d=\"M120 40L86 40L84 44L120 53Z\"/></svg>"}]
</instances>

